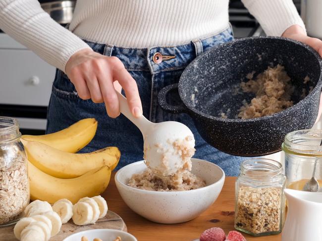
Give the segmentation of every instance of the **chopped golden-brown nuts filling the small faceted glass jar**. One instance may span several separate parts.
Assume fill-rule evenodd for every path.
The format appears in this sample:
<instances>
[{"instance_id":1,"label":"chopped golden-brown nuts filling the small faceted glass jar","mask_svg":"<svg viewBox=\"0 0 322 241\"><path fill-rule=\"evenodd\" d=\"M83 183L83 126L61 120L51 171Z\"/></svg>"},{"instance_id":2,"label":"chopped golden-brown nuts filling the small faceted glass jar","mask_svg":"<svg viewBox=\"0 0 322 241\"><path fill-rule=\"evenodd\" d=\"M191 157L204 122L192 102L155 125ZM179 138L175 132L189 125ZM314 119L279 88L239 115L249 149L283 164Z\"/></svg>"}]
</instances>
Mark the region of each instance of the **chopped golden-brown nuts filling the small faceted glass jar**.
<instances>
[{"instance_id":1,"label":"chopped golden-brown nuts filling the small faceted glass jar","mask_svg":"<svg viewBox=\"0 0 322 241\"><path fill-rule=\"evenodd\" d=\"M278 232L281 221L282 189L240 186L236 225L253 234Z\"/></svg>"}]
</instances>

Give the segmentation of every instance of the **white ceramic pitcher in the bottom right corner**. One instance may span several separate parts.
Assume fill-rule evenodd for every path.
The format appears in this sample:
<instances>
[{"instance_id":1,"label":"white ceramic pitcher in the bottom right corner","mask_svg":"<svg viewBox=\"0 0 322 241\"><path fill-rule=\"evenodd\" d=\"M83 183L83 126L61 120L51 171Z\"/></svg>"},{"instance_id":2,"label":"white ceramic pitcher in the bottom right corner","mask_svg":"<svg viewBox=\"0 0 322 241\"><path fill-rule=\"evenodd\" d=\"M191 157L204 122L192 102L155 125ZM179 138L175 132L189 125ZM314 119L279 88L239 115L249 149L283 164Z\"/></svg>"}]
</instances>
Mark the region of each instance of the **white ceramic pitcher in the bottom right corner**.
<instances>
[{"instance_id":1,"label":"white ceramic pitcher in the bottom right corner","mask_svg":"<svg viewBox=\"0 0 322 241\"><path fill-rule=\"evenodd\" d=\"M282 241L322 241L322 193L284 190L287 217Z\"/></svg>"}]
</instances>

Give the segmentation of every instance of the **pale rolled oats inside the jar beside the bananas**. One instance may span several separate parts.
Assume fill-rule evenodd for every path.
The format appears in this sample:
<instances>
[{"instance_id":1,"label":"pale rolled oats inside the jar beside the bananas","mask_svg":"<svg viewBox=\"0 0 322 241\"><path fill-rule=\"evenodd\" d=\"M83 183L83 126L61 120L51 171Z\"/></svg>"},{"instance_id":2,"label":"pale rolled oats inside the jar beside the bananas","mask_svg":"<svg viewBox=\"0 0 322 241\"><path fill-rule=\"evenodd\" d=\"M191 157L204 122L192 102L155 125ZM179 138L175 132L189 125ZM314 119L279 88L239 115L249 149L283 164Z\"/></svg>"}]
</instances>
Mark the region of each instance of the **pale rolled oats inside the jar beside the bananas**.
<instances>
[{"instance_id":1,"label":"pale rolled oats inside the jar beside the bananas","mask_svg":"<svg viewBox=\"0 0 322 241\"><path fill-rule=\"evenodd\" d=\"M7 165L0 156L0 224L17 219L29 198L26 160L16 157Z\"/></svg>"}]
</instances>

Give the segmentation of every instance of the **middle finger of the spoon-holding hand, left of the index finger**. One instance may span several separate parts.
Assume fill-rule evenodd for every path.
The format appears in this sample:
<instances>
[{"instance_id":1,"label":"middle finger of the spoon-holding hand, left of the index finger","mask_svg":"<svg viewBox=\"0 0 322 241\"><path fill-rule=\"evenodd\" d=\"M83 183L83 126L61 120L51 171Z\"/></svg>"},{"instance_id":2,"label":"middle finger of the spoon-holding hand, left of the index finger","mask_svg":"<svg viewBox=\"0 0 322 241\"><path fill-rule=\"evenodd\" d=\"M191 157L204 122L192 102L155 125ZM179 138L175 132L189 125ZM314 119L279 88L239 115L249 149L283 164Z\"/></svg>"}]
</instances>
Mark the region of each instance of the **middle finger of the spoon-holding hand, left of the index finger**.
<instances>
[{"instance_id":1,"label":"middle finger of the spoon-holding hand, left of the index finger","mask_svg":"<svg viewBox=\"0 0 322 241\"><path fill-rule=\"evenodd\" d=\"M105 102L107 115L111 118L118 117L120 114L119 105L111 74L108 72L102 72L99 76L99 84Z\"/></svg>"}]
</instances>

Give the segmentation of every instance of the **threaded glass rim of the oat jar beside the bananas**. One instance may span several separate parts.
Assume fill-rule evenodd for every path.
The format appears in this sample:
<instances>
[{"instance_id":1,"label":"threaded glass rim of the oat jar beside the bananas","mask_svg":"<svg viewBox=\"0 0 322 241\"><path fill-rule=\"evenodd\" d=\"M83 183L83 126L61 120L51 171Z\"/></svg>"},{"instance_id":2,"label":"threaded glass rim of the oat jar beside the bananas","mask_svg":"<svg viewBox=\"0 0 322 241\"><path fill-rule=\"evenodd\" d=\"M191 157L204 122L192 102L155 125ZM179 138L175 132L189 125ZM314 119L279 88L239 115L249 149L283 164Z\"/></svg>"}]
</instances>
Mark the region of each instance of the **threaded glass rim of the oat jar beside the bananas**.
<instances>
[{"instance_id":1,"label":"threaded glass rim of the oat jar beside the bananas","mask_svg":"<svg viewBox=\"0 0 322 241\"><path fill-rule=\"evenodd\" d=\"M1 138L1 136L8 136ZM11 117L0 116L0 144L10 143L20 138L19 122Z\"/></svg>"}]
</instances>

